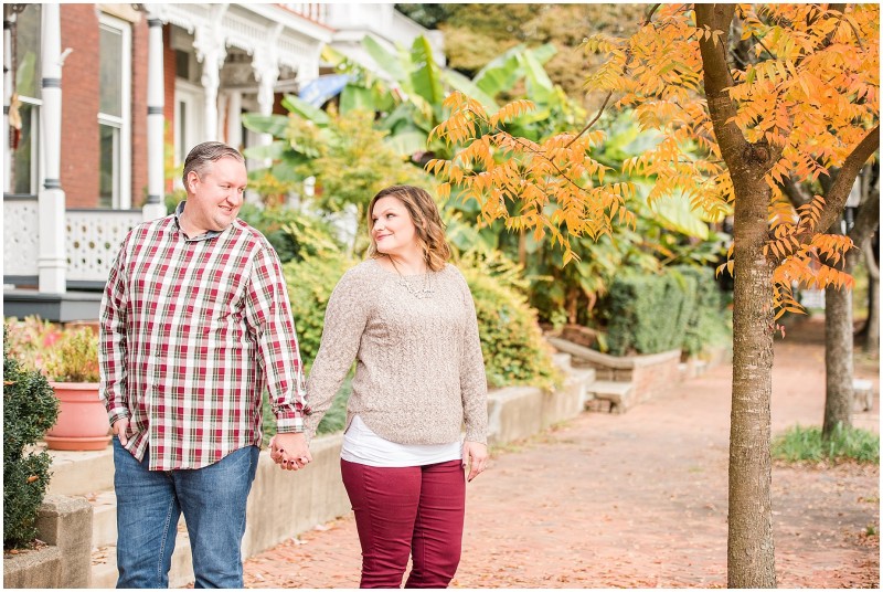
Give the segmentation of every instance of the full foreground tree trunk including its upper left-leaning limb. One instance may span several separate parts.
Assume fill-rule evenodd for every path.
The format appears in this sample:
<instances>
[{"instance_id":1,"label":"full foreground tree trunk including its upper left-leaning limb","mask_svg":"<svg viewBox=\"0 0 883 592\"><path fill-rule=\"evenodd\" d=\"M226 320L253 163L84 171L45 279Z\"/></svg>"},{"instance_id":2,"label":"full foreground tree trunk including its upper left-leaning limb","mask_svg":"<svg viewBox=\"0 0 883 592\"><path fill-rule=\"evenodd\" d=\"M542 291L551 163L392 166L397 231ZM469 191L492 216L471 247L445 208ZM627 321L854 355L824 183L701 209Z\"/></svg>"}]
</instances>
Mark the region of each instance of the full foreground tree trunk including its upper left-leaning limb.
<instances>
[{"instance_id":1,"label":"full foreground tree trunk including its upper left-leaning limb","mask_svg":"<svg viewBox=\"0 0 883 592\"><path fill-rule=\"evenodd\" d=\"M733 403L730 415L728 588L776 588L769 461L773 393L773 264L764 255L769 187L779 151L751 145L733 121L736 106L726 47L735 4L694 4L709 115L735 193L733 220Z\"/></svg>"}]
</instances>

